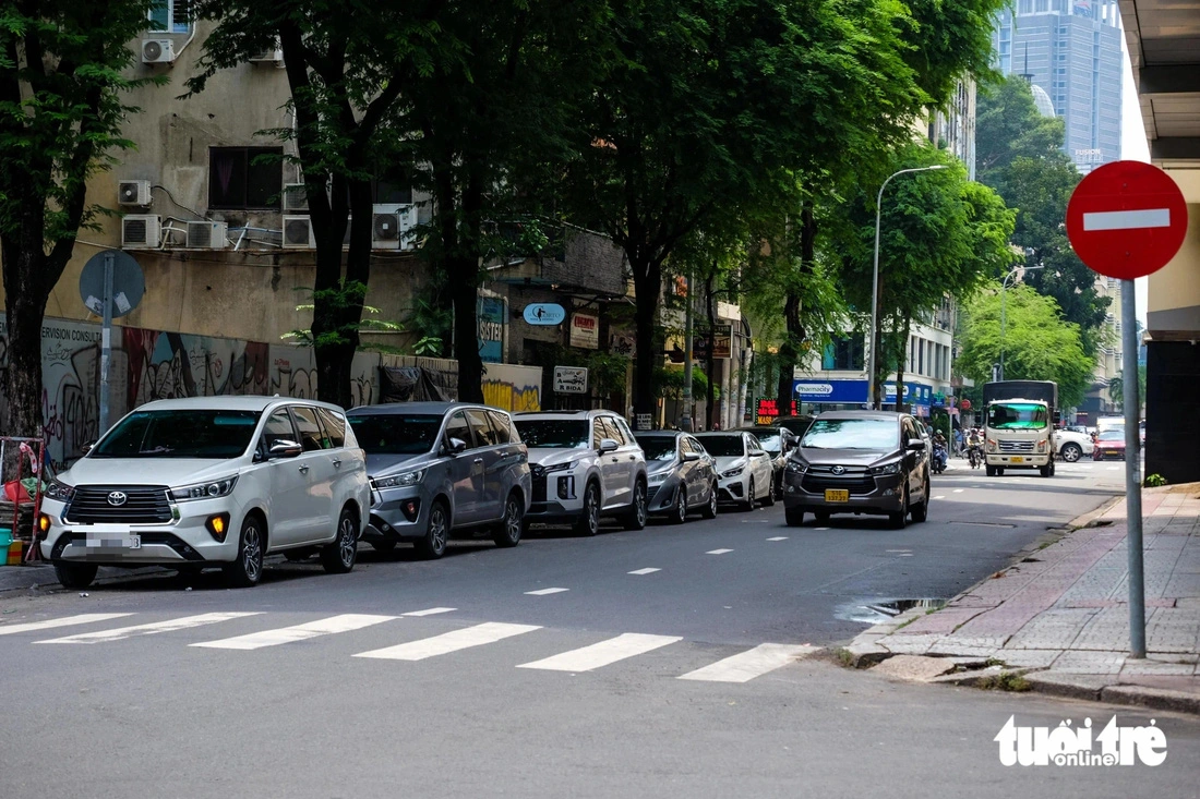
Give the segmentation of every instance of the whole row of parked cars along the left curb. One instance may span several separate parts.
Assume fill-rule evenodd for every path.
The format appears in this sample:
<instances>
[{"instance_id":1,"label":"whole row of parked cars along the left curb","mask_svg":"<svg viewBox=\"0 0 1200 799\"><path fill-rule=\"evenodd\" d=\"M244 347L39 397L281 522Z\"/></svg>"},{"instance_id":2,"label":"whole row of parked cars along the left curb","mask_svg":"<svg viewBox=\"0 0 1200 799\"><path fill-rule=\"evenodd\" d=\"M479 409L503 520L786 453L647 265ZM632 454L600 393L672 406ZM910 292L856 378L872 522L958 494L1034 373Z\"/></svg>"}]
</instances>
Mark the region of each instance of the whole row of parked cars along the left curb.
<instances>
[{"instance_id":1,"label":"whole row of parked cars along the left curb","mask_svg":"<svg viewBox=\"0 0 1200 799\"><path fill-rule=\"evenodd\" d=\"M595 535L602 517L630 530L650 515L712 518L719 503L772 505L782 492L796 437L752 429L635 435L607 410L445 402L151 402L49 483L41 552L68 588L102 565L221 567L248 587L275 553L348 572L360 540L439 558L456 536L514 547L534 523Z\"/></svg>"}]
</instances>

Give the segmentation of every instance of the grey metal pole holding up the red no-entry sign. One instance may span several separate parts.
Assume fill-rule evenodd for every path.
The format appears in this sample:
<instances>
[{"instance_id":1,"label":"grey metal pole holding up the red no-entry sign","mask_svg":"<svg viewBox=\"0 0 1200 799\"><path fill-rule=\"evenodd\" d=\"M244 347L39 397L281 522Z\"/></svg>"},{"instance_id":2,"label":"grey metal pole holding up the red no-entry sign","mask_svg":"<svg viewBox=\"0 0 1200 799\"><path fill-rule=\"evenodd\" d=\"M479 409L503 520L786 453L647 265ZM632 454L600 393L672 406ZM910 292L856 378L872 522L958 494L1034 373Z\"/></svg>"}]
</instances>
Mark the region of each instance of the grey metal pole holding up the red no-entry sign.
<instances>
[{"instance_id":1,"label":"grey metal pole holding up the red no-entry sign","mask_svg":"<svg viewBox=\"0 0 1200 799\"><path fill-rule=\"evenodd\" d=\"M1138 318L1134 282L1121 281L1121 360L1126 416L1126 517L1129 549L1129 654L1146 656L1146 589L1141 552L1141 416L1138 397Z\"/></svg>"}]
</instances>

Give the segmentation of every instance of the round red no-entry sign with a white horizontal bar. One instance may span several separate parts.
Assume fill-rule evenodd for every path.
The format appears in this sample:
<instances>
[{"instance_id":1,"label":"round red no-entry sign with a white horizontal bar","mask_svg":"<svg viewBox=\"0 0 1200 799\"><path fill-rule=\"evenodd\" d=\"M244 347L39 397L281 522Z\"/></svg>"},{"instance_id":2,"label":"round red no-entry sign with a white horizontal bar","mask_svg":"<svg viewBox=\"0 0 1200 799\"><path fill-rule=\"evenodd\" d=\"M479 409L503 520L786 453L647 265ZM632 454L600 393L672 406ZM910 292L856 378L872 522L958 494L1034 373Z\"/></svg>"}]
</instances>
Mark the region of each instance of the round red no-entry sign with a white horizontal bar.
<instances>
[{"instance_id":1,"label":"round red no-entry sign with a white horizontal bar","mask_svg":"<svg viewBox=\"0 0 1200 799\"><path fill-rule=\"evenodd\" d=\"M1093 271L1133 280L1157 272L1183 245L1188 206L1171 178L1148 163L1114 161L1075 186L1067 236Z\"/></svg>"}]
</instances>

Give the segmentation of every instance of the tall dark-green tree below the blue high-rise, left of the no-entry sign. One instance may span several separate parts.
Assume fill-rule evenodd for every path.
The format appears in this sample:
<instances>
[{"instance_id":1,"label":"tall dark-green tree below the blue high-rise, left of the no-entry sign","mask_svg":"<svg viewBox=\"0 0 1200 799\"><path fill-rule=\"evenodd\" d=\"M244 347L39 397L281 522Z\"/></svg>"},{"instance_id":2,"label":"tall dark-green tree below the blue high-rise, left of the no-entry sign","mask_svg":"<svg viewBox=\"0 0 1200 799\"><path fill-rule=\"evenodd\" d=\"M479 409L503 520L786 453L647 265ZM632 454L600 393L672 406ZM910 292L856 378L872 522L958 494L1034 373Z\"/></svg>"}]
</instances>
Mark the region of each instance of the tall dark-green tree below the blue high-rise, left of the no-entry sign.
<instances>
[{"instance_id":1,"label":"tall dark-green tree below the blue high-rise, left of the no-entry sign","mask_svg":"<svg viewBox=\"0 0 1200 799\"><path fill-rule=\"evenodd\" d=\"M1097 293L1096 274L1067 240L1067 203L1080 175L1062 150L1064 137L1063 120L1037 110L1024 78L1012 76L979 97L978 179L1016 209L1013 245L1025 253L1026 266L1044 268L1028 272L1026 281L1080 325L1091 355L1110 300Z\"/></svg>"}]
</instances>

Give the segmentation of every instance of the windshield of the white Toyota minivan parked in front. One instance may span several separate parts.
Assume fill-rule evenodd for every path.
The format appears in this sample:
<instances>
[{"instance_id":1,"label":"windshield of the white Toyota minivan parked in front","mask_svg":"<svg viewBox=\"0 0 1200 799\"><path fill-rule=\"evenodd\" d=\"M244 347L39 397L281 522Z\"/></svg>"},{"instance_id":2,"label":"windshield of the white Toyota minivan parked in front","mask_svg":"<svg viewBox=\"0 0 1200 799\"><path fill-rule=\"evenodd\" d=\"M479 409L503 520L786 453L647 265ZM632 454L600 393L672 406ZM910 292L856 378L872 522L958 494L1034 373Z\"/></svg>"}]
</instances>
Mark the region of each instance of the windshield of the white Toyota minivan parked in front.
<instances>
[{"instance_id":1,"label":"windshield of the white Toyota minivan parked in front","mask_svg":"<svg viewBox=\"0 0 1200 799\"><path fill-rule=\"evenodd\" d=\"M136 410L109 431L92 458L235 458L250 447L257 410Z\"/></svg>"}]
</instances>

